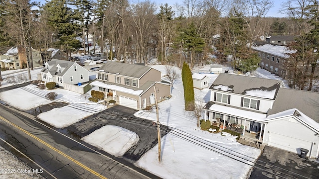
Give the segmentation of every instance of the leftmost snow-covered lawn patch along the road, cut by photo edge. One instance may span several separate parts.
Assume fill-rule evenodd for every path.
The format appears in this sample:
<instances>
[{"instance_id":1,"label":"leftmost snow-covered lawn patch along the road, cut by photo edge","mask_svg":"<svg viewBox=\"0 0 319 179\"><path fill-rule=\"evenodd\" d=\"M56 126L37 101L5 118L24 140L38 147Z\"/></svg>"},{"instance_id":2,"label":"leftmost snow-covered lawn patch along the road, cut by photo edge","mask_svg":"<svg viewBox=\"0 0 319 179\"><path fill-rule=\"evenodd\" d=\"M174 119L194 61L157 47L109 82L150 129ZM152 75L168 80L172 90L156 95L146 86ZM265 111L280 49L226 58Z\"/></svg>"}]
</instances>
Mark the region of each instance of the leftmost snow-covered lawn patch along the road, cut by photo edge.
<instances>
[{"instance_id":1,"label":"leftmost snow-covered lawn patch along the road, cut by photo edge","mask_svg":"<svg viewBox=\"0 0 319 179\"><path fill-rule=\"evenodd\" d=\"M20 110L29 110L53 102L21 88L0 92L0 99Z\"/></svg>"}]
</instances>

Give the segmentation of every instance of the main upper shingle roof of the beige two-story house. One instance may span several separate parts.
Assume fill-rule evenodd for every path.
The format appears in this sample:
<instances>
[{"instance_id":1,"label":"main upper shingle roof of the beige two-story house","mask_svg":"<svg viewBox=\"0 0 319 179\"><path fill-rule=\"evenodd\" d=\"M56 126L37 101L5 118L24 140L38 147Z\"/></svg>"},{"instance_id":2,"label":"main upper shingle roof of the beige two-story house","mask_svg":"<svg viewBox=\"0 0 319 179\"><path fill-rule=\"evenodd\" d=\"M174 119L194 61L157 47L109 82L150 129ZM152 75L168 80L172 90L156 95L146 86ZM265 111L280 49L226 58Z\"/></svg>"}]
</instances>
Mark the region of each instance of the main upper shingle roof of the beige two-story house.
<instances>
[{"instance_id":1,"label":"main upper shingle roof of the beige two-story house","mask_svg":"<svg viewBox=\"0 0 319 179\"><path fill-rule=\"evenodd\" d=\"M108 73L119 74L122 76L139 79L150 69L152 69L152 67L147 67L144 65L134 65L121 62L107 62L102 67L97 69L97 71L104 70Z\"/></svg>"}]
</instances>

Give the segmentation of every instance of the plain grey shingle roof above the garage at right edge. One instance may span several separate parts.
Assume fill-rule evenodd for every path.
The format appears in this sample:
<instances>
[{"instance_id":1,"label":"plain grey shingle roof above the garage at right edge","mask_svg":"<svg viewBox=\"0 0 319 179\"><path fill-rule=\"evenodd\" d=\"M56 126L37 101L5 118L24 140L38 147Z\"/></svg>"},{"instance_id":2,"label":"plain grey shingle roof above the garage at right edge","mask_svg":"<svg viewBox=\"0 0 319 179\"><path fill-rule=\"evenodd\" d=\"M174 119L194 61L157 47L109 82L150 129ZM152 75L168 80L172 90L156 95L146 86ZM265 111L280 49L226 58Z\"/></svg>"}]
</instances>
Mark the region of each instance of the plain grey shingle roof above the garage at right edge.
<instances>
[{"instance_id":1,"label":"plain grey shingle roof above the garage at right edge","mask_svg":"<svg viewBox=\"0 0 319 179\"><path fill-rule=\"evenodd\" d=\"M308 117L319 122L319 93L297 89L280 88L273 108L268 115L297 108Z\"/></svg>"}]
</instances>

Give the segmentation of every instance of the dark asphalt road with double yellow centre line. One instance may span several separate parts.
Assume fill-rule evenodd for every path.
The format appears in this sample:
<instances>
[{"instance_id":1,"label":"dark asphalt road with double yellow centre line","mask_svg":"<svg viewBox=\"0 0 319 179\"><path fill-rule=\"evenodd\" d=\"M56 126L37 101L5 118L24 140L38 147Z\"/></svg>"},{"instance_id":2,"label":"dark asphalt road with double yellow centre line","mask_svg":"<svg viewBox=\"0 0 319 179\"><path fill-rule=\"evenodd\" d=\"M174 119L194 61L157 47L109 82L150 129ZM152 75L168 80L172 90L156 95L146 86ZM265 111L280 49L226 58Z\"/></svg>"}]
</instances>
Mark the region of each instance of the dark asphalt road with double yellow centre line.
<instances>
[{"instance_id":1,"label":"dark asphalt road with double yellow centre line","mask_svg":"<svg viewBox=\"0 0 319 179\"><path fill-rule=\"evenodd\" d=\"M131 168L108 156L83 146L16 110L7 111L0 104L0 137L58 179L147 179L157 178L139 168ZM12 151L12 149L7 148ZM26 160L21 156L22 160ZM26 162L28 163L28 162ZM33 166L34 167L34 166ZM140 171L137 171L140 170ZM50 177L50 174L54 177Z\"/></svg>"}]
</instances>

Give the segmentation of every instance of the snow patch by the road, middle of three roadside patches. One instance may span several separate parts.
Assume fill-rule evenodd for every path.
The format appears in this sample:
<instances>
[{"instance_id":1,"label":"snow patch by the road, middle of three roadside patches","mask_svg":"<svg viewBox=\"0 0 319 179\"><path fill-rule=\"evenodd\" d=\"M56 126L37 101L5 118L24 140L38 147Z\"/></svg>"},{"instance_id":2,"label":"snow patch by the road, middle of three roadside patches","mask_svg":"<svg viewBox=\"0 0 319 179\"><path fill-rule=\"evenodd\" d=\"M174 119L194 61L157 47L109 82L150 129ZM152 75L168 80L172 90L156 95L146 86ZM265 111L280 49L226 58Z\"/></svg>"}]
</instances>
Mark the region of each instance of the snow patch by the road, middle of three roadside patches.
<instances>
[{"instance_id":1,"label":"snow patch by the road, middle of three roadside patches","mask_svg":"<svg viewBox=\"0 0 319 179\"><path fill-rule=\"evenodd\" d=\"M102 104L67 105L42 112L37 117L56 128L64 128L105 109L106 107Z\"/></svg>"}]
</instances>

